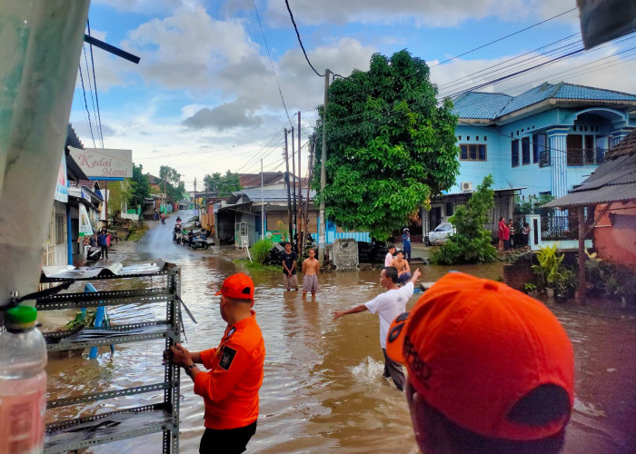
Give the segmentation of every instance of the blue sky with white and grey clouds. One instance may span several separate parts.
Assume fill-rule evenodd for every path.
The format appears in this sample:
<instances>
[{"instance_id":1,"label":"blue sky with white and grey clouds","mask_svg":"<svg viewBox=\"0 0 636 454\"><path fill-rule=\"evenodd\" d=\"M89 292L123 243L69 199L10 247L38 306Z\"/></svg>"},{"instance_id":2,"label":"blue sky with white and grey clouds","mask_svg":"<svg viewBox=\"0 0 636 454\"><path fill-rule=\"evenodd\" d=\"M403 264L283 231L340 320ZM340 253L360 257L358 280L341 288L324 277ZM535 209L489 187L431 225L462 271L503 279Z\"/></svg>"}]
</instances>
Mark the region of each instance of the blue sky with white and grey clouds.
<instances>
[{"instance_id":1,"label":"blue sky with white and grey clouds","mask_svg":"<svg viewBox=\"0 0 636 454\"><path fill-rule=\"evenodd\" d=\"M575 0L289 5L318 73L347 76L368 70L374 53L406 49L431 66L440 98L582 47L579 11L565 13ZM144 173L168 165L187 190L195 181L201 190L205 174L259 173L262 160L264 172L284 172L283 130L298 129L300 112L306 176L324 79L305 60L284 0L93 0L89 23L91 35L141 61L91 55L84 44L70 118L84 147L102 147L103 137L104 148L133 150ZM480 90L521 94L564 81L634 94L635 49L629 35Z\"/></svg>"}]
</instances>

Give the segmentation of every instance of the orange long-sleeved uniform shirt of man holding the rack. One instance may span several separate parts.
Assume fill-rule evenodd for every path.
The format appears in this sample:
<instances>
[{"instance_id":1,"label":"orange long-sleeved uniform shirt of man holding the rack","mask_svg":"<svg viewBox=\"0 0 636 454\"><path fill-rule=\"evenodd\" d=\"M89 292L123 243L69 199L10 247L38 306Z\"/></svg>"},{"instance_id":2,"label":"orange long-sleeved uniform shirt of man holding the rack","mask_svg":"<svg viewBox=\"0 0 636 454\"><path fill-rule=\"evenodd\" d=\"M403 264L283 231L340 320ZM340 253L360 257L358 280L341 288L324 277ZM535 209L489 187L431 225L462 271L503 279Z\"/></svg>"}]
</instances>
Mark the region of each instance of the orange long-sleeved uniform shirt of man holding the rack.
<instances>
[{"instance_id":1,"label":"orange long-sleeved uniform shirt of man holding the rack","mask_svg":"<svg viewBox=\"0 0 636 454\"><path fill-rule=\"evenodd\" d=\"M228 326L218 348L201 351L207 372L194 377L194 393L204 398L205 427L237 429L258 419L265 344L256 313Z\"/></svg>"}]
</instances>

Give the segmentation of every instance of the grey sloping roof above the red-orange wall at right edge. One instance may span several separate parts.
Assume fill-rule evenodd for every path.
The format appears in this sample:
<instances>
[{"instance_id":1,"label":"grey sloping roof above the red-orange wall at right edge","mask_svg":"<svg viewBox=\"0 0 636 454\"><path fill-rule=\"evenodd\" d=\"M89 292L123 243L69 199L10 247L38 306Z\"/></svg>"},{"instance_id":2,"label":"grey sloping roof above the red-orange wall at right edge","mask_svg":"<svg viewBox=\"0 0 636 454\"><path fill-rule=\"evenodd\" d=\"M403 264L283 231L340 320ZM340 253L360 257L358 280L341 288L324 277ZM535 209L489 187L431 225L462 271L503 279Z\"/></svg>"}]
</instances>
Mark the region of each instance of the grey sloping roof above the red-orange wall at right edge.
<instances>
[{"instance_id":1,"label":"grey sloping roof above the red-orange wall at right edge","mask_svg":"<svg viewBox=\"0 0 636 454\"><path fill-rule=\"evenodd\" d=\"M572 192L542 205L544 208L590 206L636 200L636 153L608 159Z\"/></svg>"}]
</instances>

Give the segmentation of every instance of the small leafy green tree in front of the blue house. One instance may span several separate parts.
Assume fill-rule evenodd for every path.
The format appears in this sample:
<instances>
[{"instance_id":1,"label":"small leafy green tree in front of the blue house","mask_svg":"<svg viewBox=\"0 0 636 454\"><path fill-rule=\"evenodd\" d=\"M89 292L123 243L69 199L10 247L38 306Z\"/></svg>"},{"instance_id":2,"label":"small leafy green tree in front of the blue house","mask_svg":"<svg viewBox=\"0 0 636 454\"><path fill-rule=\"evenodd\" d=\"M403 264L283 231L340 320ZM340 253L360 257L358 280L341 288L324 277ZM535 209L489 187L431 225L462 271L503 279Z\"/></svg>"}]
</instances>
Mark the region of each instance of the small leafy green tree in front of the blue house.
<instances>
[{"instance_id":1,"label":"small leafy green tree in front of the blue house","mask_svg":"<svg viewBox=\"0 0 636 454\"><path fill-rule=\"evenodd\" d=\"M453 265L497 259L497 250L491 244L492 233L484 228L490 221L488 212L494 207L492 183L492 175L486 176L468 203L457 207L449 220L456 232L442 246L432 250L430 259L433 263Z\"/></svg>"}]
</instances>

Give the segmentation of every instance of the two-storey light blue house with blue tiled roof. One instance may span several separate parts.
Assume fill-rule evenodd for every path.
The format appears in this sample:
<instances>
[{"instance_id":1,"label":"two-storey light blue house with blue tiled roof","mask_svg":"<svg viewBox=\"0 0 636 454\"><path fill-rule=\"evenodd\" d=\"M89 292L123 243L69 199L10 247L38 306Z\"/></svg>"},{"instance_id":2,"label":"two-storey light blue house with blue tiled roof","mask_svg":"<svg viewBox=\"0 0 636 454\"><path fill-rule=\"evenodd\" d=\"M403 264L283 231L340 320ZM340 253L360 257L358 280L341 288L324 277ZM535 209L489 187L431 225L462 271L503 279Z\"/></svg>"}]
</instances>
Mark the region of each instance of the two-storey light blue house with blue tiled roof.
<instances>
[{"instance_id":1,"label":"two-storey light blue house with blue tiled roof","mask_svg":"<svg viewBox=\"0 0 636 454\"><path fill-rule=\"evenodd\" d=\"M460 117L455 129L460 173L422 216L423 232L447 221L489 173L496 202L492 228L499 216L512 217L515 195L565 195L636 128L636 95L545 83L517 96L462 94L454 114Z\"/></svg>"}]
</instances>

